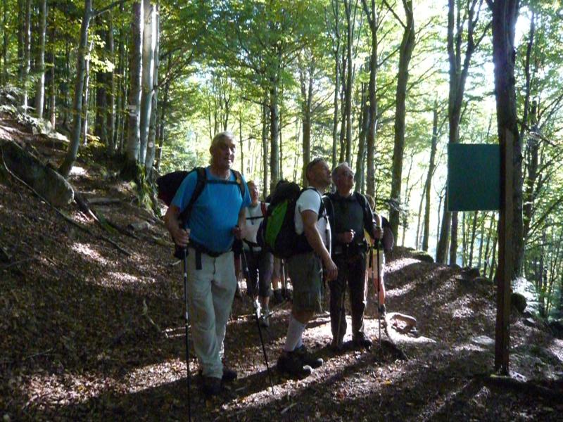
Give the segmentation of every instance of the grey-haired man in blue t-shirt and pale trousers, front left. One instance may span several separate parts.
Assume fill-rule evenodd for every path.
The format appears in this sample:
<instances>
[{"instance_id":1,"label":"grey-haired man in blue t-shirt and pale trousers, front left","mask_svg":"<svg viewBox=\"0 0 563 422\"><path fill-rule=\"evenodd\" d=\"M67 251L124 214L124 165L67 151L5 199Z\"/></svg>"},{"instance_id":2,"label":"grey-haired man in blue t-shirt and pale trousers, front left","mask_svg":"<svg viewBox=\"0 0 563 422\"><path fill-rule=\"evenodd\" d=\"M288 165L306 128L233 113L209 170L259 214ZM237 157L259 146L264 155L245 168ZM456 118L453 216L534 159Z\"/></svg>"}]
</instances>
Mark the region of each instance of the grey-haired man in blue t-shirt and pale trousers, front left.
<instances>
[{"instance_id":1,"label":"grey-haired man in blue t-shirt and pale trousers, front left","mask_svg":"<svg viewBox=\"0 0 563 422\"><path fill-rule=\"evenodd\" d=\"M236 290L232 244L235 237L243 235L244 209L251 199L244 179L231 170L235 150L232 134L215 135L209 148L211 165L205 168L205 188L194 203L186 226L180 225L179 216L194 193L197 172L191 172L182 181L165 215L166 227L175 243L189 248L191 333L203 376L203 391L208 395L219 394L222 381L236 378L236 372L222 364L223 340Z\"/></svg>"}]
</instances>

